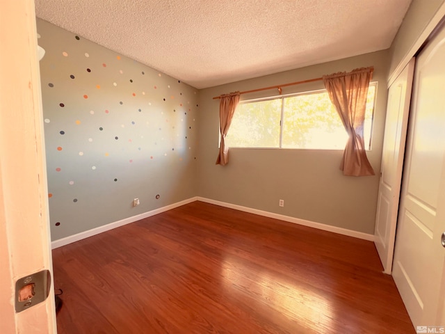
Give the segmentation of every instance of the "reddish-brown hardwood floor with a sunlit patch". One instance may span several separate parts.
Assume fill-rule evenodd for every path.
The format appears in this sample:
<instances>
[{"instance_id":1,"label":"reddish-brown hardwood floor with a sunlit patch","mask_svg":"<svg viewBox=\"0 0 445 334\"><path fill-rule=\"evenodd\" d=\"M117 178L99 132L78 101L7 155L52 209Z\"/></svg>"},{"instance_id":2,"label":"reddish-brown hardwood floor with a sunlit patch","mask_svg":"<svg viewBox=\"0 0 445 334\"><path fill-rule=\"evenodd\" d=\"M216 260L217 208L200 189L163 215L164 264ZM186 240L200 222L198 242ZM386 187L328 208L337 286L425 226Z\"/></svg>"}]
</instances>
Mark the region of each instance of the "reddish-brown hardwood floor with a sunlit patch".
<instances>
[{"instance_id":1,"label":"reddish-brown hardwood floor with a sunlit patch","mask_svg":"<svg viewBox=\"0 0 445 334\"><path fill-rule=\"evenodd\" d=\"M415 333L371 241L204 202L53 262L58 333Z\"/></svg>"}]
</instances>

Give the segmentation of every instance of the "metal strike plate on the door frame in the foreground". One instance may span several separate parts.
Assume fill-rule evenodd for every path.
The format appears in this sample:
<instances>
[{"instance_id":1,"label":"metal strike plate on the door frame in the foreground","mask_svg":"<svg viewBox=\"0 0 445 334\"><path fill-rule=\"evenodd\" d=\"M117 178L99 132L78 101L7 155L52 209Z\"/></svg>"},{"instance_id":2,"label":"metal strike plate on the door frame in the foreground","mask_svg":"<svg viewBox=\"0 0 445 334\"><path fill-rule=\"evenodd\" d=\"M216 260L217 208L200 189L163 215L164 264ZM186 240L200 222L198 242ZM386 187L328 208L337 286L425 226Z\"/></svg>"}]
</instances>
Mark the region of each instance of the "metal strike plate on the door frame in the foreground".
<instances>
[{"instance_id":1,"label":"metal strike plate on the door frame in the foreground","mask_svg":"<svg viewBox=\"0 0 445 334\"><path fill-rule=\"evenodd\" d=\"M15 312L22 312L48 298L51 289L51 273L42 270L20 278L15 282Z\"/></svg>"}]
</instances>

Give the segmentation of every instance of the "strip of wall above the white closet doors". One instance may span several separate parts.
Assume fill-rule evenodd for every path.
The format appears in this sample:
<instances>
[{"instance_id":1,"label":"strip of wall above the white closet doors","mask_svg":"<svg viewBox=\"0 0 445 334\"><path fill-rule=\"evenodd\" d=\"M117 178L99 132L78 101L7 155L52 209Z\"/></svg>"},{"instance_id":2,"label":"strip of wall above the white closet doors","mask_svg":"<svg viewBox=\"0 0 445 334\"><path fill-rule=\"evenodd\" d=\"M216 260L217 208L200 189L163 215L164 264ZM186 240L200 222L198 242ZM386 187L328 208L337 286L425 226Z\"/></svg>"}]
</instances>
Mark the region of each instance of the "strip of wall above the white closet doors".
<instances>
[{"instance_id":1,"label":"strip of wall above the white closet doors","mask_svg":"<svg viewBox=\"0 0 445 334\"><path fill-rule=\"evenodd\" d=\"M419 38L444 1L445 0L412 1L390 48L391 63L389 66L389 74L392 74L392 72L396 70L398 64L401 63L408 51L410 51L414 42Z\"/></svg>"}]
</instances>

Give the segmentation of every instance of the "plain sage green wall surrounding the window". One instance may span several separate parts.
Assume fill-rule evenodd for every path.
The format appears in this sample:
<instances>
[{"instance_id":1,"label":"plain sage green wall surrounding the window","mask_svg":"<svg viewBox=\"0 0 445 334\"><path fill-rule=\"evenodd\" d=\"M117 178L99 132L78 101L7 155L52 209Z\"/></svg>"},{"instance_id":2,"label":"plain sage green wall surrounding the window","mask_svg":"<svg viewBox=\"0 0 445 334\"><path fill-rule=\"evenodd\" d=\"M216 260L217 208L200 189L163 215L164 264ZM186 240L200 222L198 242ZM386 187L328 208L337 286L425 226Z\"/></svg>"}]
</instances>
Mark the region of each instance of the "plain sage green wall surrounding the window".
<instances>
[{"instance_id":1,"label":"plain sage green wall surrounding the window","mask_svg":"<svg viewBox=\"0 0 445 334\"><path fill-rule=\"evenodd\" d=\"M374 66L378 81L372 150L376 176L346 177L339 170L341 150L231 149L229 164L215 165L218 154L218 106L212 97L236 90L286 84L323 74ZM378 174L387 104L389 51L379 51L233 84L200 90L198 196L317 223L373 234ZM322 81L283 89L283 93L321 89ZM242 99L277 92L242 95ZM284 199L284 207L278 201Z\"/></svg>"}]
</instances>

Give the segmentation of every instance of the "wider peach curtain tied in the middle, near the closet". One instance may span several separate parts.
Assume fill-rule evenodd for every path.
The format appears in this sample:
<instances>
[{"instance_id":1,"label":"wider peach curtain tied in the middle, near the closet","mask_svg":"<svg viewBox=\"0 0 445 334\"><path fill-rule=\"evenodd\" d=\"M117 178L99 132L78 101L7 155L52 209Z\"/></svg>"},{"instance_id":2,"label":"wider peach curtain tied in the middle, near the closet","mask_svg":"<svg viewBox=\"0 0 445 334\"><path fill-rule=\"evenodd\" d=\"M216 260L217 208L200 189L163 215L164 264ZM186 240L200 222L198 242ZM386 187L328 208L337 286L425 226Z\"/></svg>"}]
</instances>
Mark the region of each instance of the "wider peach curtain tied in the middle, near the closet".
<instances>
[{"instance_id":1,"label":"wider peach curtain tied in the middle, near the closet","mask_svg":"<svg viewBox=\"0 0 445 334\"><path fill-rule=\"evenodd\" d=\"M364 114L373 67L323 76L332 104L339 113L349 139L341 159L343 175L375 175L366 157L363 139Z\"/></svg>"}]
</instances>

